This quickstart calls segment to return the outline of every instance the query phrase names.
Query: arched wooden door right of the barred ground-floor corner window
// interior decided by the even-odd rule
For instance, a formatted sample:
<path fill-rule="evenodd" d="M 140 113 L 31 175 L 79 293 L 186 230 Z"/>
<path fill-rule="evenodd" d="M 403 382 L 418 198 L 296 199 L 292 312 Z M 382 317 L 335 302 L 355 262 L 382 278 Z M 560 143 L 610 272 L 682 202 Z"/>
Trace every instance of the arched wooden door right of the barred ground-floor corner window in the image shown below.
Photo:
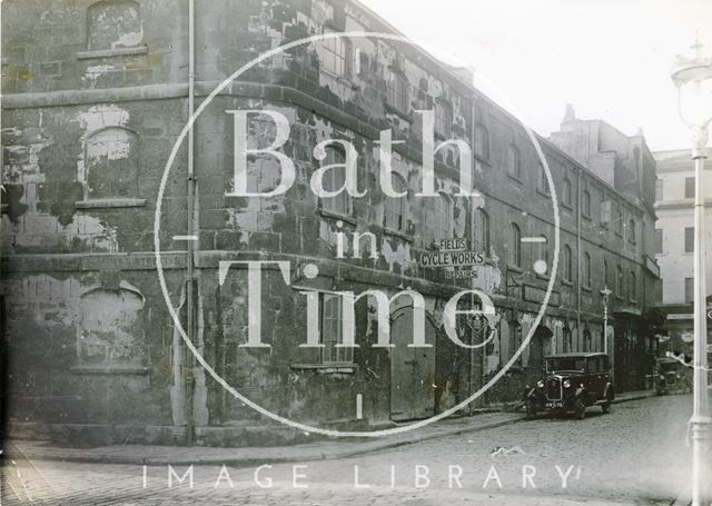
<path fill-rule="evenodd" d="M 408 348 L 413 343 L 413 309 L 394 315 L 390 325 L 390 418 L 396 421 L 435 414 L 435 328 L 426 320 L 425 341 L 432 348 Z"/>

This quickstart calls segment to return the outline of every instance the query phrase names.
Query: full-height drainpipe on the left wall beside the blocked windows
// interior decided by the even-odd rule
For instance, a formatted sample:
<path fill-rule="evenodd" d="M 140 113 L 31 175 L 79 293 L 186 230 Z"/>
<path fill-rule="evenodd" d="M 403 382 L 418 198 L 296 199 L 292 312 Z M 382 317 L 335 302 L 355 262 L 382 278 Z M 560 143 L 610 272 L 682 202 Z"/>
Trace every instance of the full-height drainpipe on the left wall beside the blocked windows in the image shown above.
<path fill-rule="evenodd" d="M 195 0 L 188 0 L 188 120 L 195 111 L 195 88 L 196 88 L 196 58 L 195 58 Z M 194 143 L 195 143 L 195 125 L 188 131 L 188 240 L 187 242 L 187 335 L 191 343 L 195 341 L 195 241 L 191 236 L 195 235 L 195 187 L 196 178 L 194 170 Z M 194 357 L 192 354 L 186 354 L 186 446 L 194 443 L 194 416 L 192 416 L 192 390 L 194 390 Z"/>

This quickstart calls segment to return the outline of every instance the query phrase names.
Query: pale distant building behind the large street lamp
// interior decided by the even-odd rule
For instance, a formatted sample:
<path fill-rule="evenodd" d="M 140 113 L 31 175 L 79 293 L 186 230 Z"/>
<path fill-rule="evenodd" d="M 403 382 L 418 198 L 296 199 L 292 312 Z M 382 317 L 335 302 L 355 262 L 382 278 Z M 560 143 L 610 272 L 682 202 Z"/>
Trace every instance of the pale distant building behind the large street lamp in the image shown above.
<path fill-rule="evenodd" d="M 657 151 L 655 181 L 655 257 L 663 279 L 660 305 L 666 315 L 671 351 L 692 355 L 692 302 L 694 300 L 694 161 L 689 149 Z M 706 294 L 712 294 L 712 176 L 711 160 L 704 171 L 706 211 Z M 708 314 L 712 306 L 708 305 Z M 708 341 L 712 340 L 712 320 L 708 318 Z"/>

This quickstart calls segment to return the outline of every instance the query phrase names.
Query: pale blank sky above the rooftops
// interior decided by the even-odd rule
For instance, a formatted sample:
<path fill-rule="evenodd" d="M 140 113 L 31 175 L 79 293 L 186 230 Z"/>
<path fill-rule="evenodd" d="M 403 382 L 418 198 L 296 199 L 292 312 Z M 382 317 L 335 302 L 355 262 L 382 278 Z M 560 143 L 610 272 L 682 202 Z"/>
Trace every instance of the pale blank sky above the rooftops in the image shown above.
<path fill-rule="evenodd" d="M 483 76 L 538 133 L 566 103 L 652 151 L 689 149 L 670 79 L 695 32 L 712 52 L 712 0 L 360 0 L 441 59 Z"/>

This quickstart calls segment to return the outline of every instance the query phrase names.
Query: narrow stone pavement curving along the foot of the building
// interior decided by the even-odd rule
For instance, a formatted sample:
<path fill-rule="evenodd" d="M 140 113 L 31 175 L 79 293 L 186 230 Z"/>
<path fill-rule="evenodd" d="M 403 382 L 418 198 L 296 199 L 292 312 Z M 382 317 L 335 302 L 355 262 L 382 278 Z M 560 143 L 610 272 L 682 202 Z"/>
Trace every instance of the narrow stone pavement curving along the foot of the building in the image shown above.
<path fill-rule="evenodd" d="M 625 393 L 615 403 L 636 400 L 654 396 L 654 390 Z M 233 467 L 249 467 L 255 464 L 279 464 L 347 458 L 403 445 L 442 438 L 463 433 L 475 433 L 503 425 L 514 424 L 524 418 L 521 413 L 481 413 L 473 417 L 451 418 L 426 427 L 406 431 L 387 438 L 374 439 L 322 439 L 313 444 L 284 447 L 181 447 L 112 445 L 95 448 L 62 448 L 42 440 L 16 439 L 4 448 L 6 457 L 65 460 L 76 463 L 139 464 L 162 466 L 167 464 L 219 464 Z"/>

